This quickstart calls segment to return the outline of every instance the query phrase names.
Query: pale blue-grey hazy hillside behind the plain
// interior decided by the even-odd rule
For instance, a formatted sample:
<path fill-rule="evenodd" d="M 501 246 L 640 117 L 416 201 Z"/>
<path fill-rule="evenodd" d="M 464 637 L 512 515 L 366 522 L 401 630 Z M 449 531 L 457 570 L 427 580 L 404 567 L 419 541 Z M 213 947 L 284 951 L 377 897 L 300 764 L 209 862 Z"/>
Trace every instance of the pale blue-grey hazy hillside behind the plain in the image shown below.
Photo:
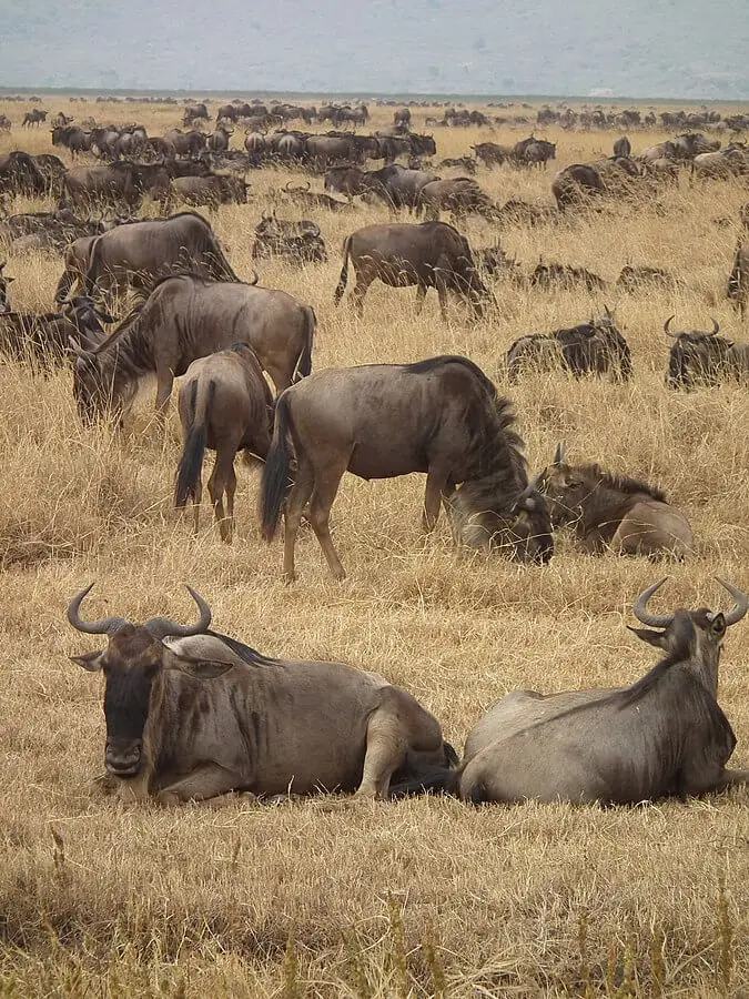
<path fill-rule="evenodd" d="M 2 0 L 0 85 L 749 98 L 747 0 Z"/>

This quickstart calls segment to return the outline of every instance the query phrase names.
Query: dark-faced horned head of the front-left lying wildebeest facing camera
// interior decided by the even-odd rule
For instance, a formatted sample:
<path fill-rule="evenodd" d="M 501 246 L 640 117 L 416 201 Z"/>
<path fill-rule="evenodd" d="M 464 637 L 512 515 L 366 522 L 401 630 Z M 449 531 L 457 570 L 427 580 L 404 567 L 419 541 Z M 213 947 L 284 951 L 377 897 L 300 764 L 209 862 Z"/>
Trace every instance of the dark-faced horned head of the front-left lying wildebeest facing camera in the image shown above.
<path fill-rule="evenodd" d="M 122 617 L 107 617 L 98 622 L 84 622 L 80 606 L 91 592 L 82 589 L 68 606 L 68 620 L 79 632 L 88 635 L 107 635 L 105 649 L 73 656 L 73 663 L 92 673 L 104 674 L 104 717 L 107 720 L 107 747 L 104 763 L 117 777 L 134 777 L 144 763 L 143 736 L 148 720 L 151 693 L 156 677 L 164 668 L 180 668 L 209 678 L 225 670 L 212 664 L 190 664 L 171 654 L 162 644 L 168 636 L 186 637 L 205 633 L 211 624 L 211 608 L 188 586 L 190 595 L 200 608 L 200 618 L 193 625 L 179 625 L 164 617 L 154 617 L 144 625 L 134 625 Z"/>

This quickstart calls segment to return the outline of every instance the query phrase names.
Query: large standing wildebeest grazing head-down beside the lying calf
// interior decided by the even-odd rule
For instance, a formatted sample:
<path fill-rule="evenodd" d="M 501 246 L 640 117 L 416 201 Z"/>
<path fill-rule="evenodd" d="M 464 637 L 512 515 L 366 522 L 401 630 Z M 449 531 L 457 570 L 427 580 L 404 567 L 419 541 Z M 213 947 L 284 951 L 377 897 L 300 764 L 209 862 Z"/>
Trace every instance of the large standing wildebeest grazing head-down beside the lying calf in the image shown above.
<path fill-rule="evenodd" d="M 434 528 L 444 500 L 458 541 L 547 562 L 554 551 L 548 509 L 528 485 L 514 422 L 507 400 L 459 356 L 331 369 L 282 393 L 263 468 L 261 523 L 270 542 L 285 504 L 286 579 L 294 578 L 294 545 L 307 501 L 305 516 L 328 568 L 344 578 L 328 519 L 346 471 L 367 481 L 426 472 L 426 531 Z"/>

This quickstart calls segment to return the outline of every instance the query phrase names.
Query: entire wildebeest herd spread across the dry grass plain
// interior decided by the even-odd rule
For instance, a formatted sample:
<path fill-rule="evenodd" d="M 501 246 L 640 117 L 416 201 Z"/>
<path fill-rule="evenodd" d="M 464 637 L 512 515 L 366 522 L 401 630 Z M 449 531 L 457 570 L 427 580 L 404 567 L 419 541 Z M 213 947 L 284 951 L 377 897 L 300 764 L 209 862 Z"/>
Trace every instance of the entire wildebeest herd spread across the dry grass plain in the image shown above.
<path fill-rule="evenodd" d="M 51 142 L 68 151 L 69 167 L 20 150 L 0 157 L 0 240 L 11 259 L 30 251 L 62 258 L 51 296 L 58 311 L 43 313 L 13 310 L 12 266 L 0 266 L 2 353 L 42 374 L 69 366 L 84 425 L 102 418 L 123 424 L 139 385 L 155 375 L 163 432 L 174 380 L 182 379 L 175 506 L 192 502 L 196 532 L 203 457 L 215 451 L 208 490 L 221 538 L 231 542 L 234 461 L 244 452 L 262 465 L 259 522 L 267 542 L 283 518 L 289 582 L 303 521 L 331 573 L 344 578 L 330 514 L 346 471 L 367 481 L 425 473 L 424 529 L 435 528 L 444 507 L 464 552 L 544 566 L 554 556 L 555 533 L 568 528 L 571 543 L 589 554 L 689 558 L 696 549 L 689 521 L 659 487 L 584 455 L 568 460 L 564 442 L 546 467 L 529 473 L 513 404 L 466 356 L 313 372 L 313 307 L 263 286 L 256 273 L 240 280 L 211 220 L 176 209 L 235 204 L 250 214 L 259 206 L 260 219 L 255 212 L 249 226 L 253 261 L 261 266 L 282 258 L 304 272 L 335 251 L 326 248 L 317 221 L 277 218 L 284 200 L 318 218 L 334 211 L 354 219 L 358 204 L 384 205 L 389 221 L 352 222 L 340 280 L 330 289 L 335 304 L 361 317 L 367 290 L 379 281 L 415 287 L 416 314 L 434 289 L 444 320 L 451 295 L 464 324 L 490 325 L 502 320 L 497 278 L 529 294 L 583 287 L 603 296 L 608 290 L 591 271 L 547 259 L 524 275 L 498 242 L 514 219 L 568 224 L 570 215 L 619 200 L 655 200 L 681 174 L 691 183 L 742 178 L 749 175 L 749 151 L 736 137 L 720 149 L 720 139 L 689 131 L 634 157 L 630 139 L 621 137 L 613 157 L 561 169 L 550 182 L 554 203 L 498 204 L 476 180 L 478 169 L 544 169 L 556 159 L 555 143 L 535 134 L 512 148 L 486 141 L 433 165 L 438 140 L 412 131 L 412 115 L 404 112 L 395 113 L 392 127 L 360 134 L 348 127 L 365 128 L 365 105 L 226 104 L 206 135 L 195 125 L 210 115 L 198 104 L 184 114 L 190 131 L 162 137 L 135 124 L 84 128 L 55 115 Z M 23 125 L 40 128 L 40 114 L 30 112 Z M 442 124 L 455 128 L 458 119 L 445 112 Z M 287 128 L 294 120 L 305 131 Z M 334 130 L 306 131 L 314 121 L 330 121 Z M 232 149 L 240 123 L 243 149 Z M 629 122 L 630 131 L 636 127 Z M 78 165 L 81 157 L 91 162 Z M 378 160 L 382 167 L 374 165 Z M 312 180 L 296 188 L 289 182 L 272 204 L 257 205 L 246 178 L 280 167 L 322 178 L 324 189 L 313 191 Z M 435 172 L 443 169 L 469 175 L 443 178 Z M 12 199 L 41 195 L 54 200 L 51 211 L 12 211 Z M 159 216 L 139 218 L 144 204 Z M 494 245 L 470 244 L 460 226 L 472 218 L 496 228 Z M 748 222 L 745 211 L 722 289 L 741 316 L 749 300 Z M 346 300 L 350 269 L 354 286 Z M 632 262 L 611 290 L 675 284 L 667 271 Z M 126 314 L 117 320 L 125 300 Z M 709 331 L 677 332 L 674 320 L 664 323 L 664 334 L 674 339 L 668 386 L 749 376 L 749 345 L 719 335 L 715 321 Z M 600 302 L 588 321 L 516 340 L 499 373 L 512 387 L 539 371 L 624 384 L 636 370 L 615 310 Z M 650 672 L 626 688 L 513 692 L 473 727 L 462 763 L 439 723 L 407 690 L 340 663 L 269 658 L 211 630 L 211 610 L 192 589 L 200 618 L 189 627 L 165 618 L 87 622 L 81 604 L 90 587 L 71 601 L 68 617 L 81 632 L 107 635 L 103 652 L 77 662 L 105 676 L 107 783 L 136 797 L 169 804 L 232 793 L 387 797 L 439 789 L 474 803 L 626 804 L 749 779 L 748 771 L 726 768 L 736 739 L 717 699 L 722 639 L 749 602 L 719 582 L 733 602 L 725 613 L 678 608 L 656 615 L 648 603 L 661 584 L 649 586 L 635 614 L 649 628 L 638 629 L 638 637 L 664 653 Z"/>

